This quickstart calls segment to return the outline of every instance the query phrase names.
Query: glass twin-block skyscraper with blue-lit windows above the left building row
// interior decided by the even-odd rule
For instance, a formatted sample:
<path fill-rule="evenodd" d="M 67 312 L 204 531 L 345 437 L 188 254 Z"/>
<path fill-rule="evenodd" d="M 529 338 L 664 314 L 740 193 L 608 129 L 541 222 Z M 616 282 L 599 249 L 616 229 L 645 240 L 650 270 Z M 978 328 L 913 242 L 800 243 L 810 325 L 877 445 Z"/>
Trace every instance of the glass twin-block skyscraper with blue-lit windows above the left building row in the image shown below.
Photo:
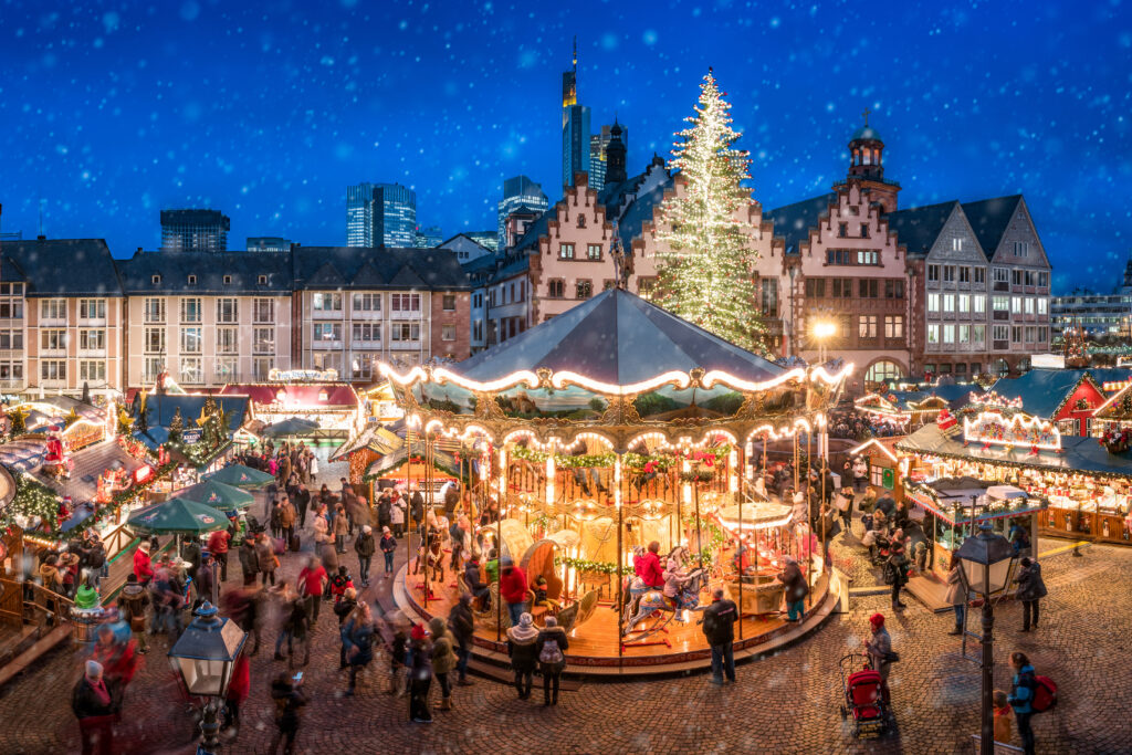
<path fill-rule="evenodd" d="M 346 246 L 413 247 L 417 192 L 400 183 L 346 187 Z"/>

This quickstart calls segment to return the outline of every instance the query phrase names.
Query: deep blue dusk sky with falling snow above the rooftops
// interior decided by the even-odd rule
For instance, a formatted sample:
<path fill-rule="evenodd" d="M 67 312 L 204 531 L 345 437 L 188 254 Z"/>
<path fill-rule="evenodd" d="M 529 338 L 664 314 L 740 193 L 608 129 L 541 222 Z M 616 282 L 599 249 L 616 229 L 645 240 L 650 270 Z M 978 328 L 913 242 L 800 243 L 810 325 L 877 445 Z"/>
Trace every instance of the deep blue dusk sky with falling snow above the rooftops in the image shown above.
<path fill-rule="evenodd" d="M 3 230 L 160 242 L 212 206 L 247 235 L 343 243 L 345 187 L 421 224 L 495 228 L 501 180 L 560 195 L 560 74 L 668 156 L 714 66 L 775 207 L 827 190 L 864 108 L 901 206 L 1022 191 L 1055 286 L 1132 250 L 1132 8 L 1088 2 L 0 0 Z"/>

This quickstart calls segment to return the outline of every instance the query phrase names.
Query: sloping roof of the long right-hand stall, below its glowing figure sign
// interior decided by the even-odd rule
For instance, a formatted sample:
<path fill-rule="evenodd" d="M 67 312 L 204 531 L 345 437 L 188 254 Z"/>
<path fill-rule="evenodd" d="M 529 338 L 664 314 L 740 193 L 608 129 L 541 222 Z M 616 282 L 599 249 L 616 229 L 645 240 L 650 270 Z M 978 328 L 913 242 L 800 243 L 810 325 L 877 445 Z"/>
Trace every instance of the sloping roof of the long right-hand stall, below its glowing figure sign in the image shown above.
<path fill-rule="evenodd" d="M 926 453 L 951 458 L 967 458 L 975 462 L 1005 464 L 1010 466 L 1032 466 L 1052 472 L 1091 474 L 1098 477 L 1132 478 L 1132 452 L 1109 454 L 1096 438 L 1062 436 L 1062 453 L 1039 449 L 1031 454 L 1024 446 L 1007 451 L 1005 446 L 963 446 L 958 438 L 949 438 L 938 426 L 927 424 L 895 444 L 897 451 Z"/>

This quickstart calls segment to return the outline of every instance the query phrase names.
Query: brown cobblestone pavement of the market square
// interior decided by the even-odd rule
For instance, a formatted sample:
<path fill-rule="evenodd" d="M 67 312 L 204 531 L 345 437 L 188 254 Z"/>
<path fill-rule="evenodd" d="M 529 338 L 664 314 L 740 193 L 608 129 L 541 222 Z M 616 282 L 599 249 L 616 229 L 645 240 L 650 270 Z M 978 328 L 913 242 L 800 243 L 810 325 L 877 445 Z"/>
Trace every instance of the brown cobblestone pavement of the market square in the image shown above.
<path fill-rule="evenodd" d="M 305 533 L 309 541 L 309 531 Z M 1047 547 L 1049 543 L 1047 543 Z M 305 547 L 309 548 L 309 544 Z M 1020 634 L 1020 607 L 996 611 L 996 684 L 1009 689 L 1003 662 L 1014 649 L 1028 652 L 1039 672 L 1061 687 L 1058 707 L 1035 719 L 1040 753 L 1129 753 L 1132 695 L 1125 625 L 1132 617 L 1132 549 L 1088 548 L 1083 558 L 1058 556 L 1045 564 L 1049 597 L 1041 628 Z M 352 556 L 346 557 L 351 568 Z M 299 559 L 289 555 L 290 576 Z M 238 572 L 238 567 L 233 569 Z M 380 569 L 376 569 L 380 573 Z M 380 583 L 380 580 L 376 580 Z M 387 584 L 387 583 L 386 583 Z M 367 591 L 387 594 L 386 584 Z M 358 696 L 344 698 L 337 670 L 336 623 L 318 623 L 306 687 L 311 694 L 299 733 L 299 752 L 391 753 L 954 753 L 970 752 L 978 729 L 979 672 L 962 660 L 959 640 L 946 635 L 951 617 L 934 616 L 909 600 L 891 616 L 885 597 L 863 598 L 798 645 L 739 668 L 737 685 L 722 688 L 702 675 L 659 681 L 586 683 L 563 693 L 558 707 L 543 709 L 537 690 L 520 701 L 511 687 L 480 678 L 457 688 L 455 710 L 434 711 L 431 726 L 408 721 L 408 703 L 381 693 L 385 659 L 367 671 Z M 857 741 L 839 715 L 838 660 L 860 646 L 871 614 L 890 615 L 893 644 L 903 660 L 894 667 L 892 693 L 898 731 L 882 740 Z M 329 620 L 327 620 L 329 619 Z M 972 623 L 974 626 L 974 623 Z M 127 693 L 118 728 L 122 752 L 191 753 L 192 726 L 178 702 L 175 684 L 158 640 Z M 71 651 L 59 651 L 41 668 L 0 693 L 2 753 L 77 752 L 69 710 L 79 671 Z M 243 726 L 226 753 L 264 753 L 274 733 L 267 685 L 282 668 L 269 647 L 252 659 L 252 694 Z M 535 685 L 538 685 L 538 679 Z M 437 685 L 434 684 L 434 700 Z M 1017 739 L 1015 739 L 1017 744 Z"/>

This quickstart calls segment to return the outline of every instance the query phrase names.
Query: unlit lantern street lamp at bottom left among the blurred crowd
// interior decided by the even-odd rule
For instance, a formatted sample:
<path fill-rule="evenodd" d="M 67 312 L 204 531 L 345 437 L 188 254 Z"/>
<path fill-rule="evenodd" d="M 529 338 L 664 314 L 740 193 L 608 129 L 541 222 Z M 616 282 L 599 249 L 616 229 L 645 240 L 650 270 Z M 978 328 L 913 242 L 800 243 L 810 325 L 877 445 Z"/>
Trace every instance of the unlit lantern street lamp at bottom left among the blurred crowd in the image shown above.
<path fill-rule="evenodd" d="M 220 701 L 232 681 L 235 659 L 248 635 L 228 618 L 216 616 L 216 607 L 205 601 L 194 611 L 196 618 L 169 651 L 173 670 L 181 676 L 190 695 L 207 697 L 198 754 L 215 753 L 220 745 Z"/>

